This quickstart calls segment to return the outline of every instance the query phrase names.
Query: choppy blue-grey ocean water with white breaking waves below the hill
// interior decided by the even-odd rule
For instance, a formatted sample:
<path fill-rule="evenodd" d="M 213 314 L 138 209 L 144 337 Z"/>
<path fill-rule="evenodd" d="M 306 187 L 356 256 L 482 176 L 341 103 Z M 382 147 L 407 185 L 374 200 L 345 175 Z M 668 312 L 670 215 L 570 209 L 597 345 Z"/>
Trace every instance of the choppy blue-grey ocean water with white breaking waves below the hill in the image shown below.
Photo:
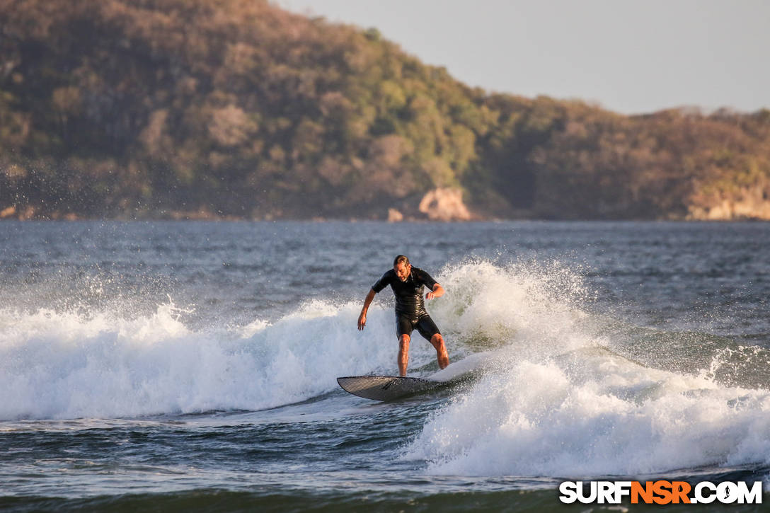
<path fill-rule="evenodd" d="M 335 378 L 397 374 L 390 290 L 356 322 L 399 253 L 447 290 L 427 307 L 452 364 L 415 333 L 410 375 L 455 384 L 384 404 Z M 541 511 L 591 478 L 770 491 L 768 255 L 766 223 L 6 221 L 0 510 Z"/>

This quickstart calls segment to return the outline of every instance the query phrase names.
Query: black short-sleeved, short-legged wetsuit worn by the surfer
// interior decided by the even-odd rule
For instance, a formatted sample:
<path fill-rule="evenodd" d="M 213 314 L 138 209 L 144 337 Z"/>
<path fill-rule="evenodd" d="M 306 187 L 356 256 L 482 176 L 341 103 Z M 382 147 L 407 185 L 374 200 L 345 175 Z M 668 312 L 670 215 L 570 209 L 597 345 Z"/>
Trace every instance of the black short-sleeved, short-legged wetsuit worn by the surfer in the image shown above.
<path fill-rule="evenodd" d="M 430 340 L 435 334 L 440 334 L 436 323 L 425 311 L 425 299 L 423 293 L 425 286 L 430 290 L 436 285 L 436 280 L 417 267 L 412 267 L 412 272 L 406 281 L 401 281 L 396 271 L 391 269 L 383 274 L 377 283 L 372 285 L 372 290 L 379 293 L 390 285 L 396 296 L 396 332 L 401 335 L 411 335 L 417 328 L 420 335 Z"/>

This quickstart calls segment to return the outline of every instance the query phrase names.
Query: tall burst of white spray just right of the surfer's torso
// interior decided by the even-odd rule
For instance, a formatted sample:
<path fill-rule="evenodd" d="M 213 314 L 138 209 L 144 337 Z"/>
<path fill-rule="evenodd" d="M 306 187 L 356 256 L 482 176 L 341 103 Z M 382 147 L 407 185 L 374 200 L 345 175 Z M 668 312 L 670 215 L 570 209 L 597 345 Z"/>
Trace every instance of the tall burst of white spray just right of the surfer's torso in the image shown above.
<path fill-rule="evenodd" d="M 430 304 L 430 312 L 450 334 L 450 346 L 467 346 L 467 352 L 506 346 L 523 354 L 558 354 L 598 343 L 587 335 L 592 318 L 585 307 L 593 296 L 581 276 L 558 261 L 502 266 L 468 260 L 445 267 L 440 281 L 446 300 Z"/>

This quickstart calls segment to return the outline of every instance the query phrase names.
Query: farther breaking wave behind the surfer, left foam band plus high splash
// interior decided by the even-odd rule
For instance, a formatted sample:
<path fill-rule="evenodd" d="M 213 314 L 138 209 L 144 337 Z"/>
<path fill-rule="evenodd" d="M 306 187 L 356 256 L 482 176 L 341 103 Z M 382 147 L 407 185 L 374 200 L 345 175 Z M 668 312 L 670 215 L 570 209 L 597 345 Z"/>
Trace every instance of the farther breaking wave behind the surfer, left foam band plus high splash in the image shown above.
<path fill-rule="evenodd" d="M 535 276 L 467 262 L 440 280 L 452 293 L 429 308 L 455 361 L 507 343 L 515 330 L 543 330 L 556 310 L 575 314 L 547 298 L 571 280 L 565 270 Z M 392 301 L 380 296 L 364 332 L 356 330 L 360 302 L 313 300 L 272 323 L 214 327 L 170 297 L 150 314 L 68 300 L 59 310 L 5 307 L 0 420 L 254 411 L 336 390 L 340 375 L 394 374 Z M 436 370 L 430 344 L 413 343 L 410 373 Z"/>

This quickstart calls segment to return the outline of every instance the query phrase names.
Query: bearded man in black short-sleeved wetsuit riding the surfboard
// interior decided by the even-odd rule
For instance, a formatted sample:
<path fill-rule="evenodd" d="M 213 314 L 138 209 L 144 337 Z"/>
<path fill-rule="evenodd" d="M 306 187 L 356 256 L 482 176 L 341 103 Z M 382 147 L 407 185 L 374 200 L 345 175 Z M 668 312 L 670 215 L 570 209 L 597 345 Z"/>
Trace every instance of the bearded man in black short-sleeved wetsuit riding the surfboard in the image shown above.
<path fill-rule="evenodd" d="M 393 260 L 393 269 L 383 274 L 377 283 L 374 283 L 363 300 L 363 308 L 358 316 L 358 329 L 363 330 L 367 325 L 367 310 L 374 300 L 374 296 L 390 285 L 393 295 L 396 297 L 396 334 L 399 342 L 398 371 L 401 376 L 407 375 L 407 363 L 409 362 L 409 342 L 412 331 L 417 328 L 425 340 L 428 340 L 436 348 L 438 366 L 440 368 L 449 365 L 447 347 L 444 346 L 444 337 L 425 310 L 423 292 L 425 286 L 430 292 L 425 294 L 425 299 L 432 300 L 444 295 L 444 287 L 441 287 L 430 274 L 412 267 L 409 259 L 399 255 Z"/>

